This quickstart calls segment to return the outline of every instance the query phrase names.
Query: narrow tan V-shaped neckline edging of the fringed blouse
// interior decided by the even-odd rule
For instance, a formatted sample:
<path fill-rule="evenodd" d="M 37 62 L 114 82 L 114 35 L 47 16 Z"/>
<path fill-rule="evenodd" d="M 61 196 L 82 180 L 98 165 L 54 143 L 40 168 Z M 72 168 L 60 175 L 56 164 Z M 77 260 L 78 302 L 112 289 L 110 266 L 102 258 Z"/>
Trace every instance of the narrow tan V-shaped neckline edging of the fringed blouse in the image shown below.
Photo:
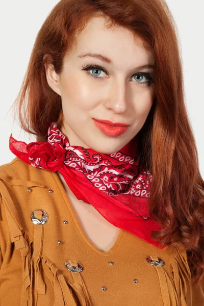
<path fill-rule="evenodd" d="M 67 209 L 69 210 L 71 216 L 72 216 L 72 219 L 75 223 L 75 225 L 77 225 L 77 228 L 78 228 L 78 231 L 79 233 L 81 234 L 83 240 L 85 241 L 86 244 L 88 244 L 95 252 L 99 253 L 100 255 L 104 255 L 104 256 L 109 256 L 110 254 L 113 254 L 113 252 L 117 249 L 124 233 L 125 233 L 125 230 L 123 230 L 122 228 L 119 228 L 119 232 L 118 232 L 118 235 L 117 235 L 117 238 L 113 244 L 113 246 L 108 250 L 108 251 L 103 251 L 103 250 L 100 250 L 99 248 L 97 248 L 88 238 L 88 236 L 86 235 L 86 233 L 84 232 L 83 230 L 83 227 L 77 217 L 77 214 L 74 212 L 74 209 L 69 201 L 69 198 L 67 196 L 67 193 L 66 193 L 66 190 L 63 186 L 63 182 L 61 181 L 60 179 L 60 176 L 57 172 L 51 172 L 54 177 L 55 177 L 55 180 L 61 190 L 61 193 L 63 195 L 63 198 L 64 198 L 64 201 L 66 203 L 66 206 L 67 206 Z"/>

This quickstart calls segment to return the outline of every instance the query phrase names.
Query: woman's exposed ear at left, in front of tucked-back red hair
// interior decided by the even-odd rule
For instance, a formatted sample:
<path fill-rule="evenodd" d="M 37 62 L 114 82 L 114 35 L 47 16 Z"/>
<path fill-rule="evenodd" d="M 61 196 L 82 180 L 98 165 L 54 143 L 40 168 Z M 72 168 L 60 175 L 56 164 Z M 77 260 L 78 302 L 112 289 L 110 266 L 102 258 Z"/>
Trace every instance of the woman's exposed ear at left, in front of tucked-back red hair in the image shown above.
<path fill-rule="evenodd" d="M 46 55 L 43 56 L 43 61 L 45 61 Z M 55 72 L 53 64 L 46 62 L 44 63 L 46 79 L 49 87 L 51 87 L 56 93 L 61 96 L 61 91 L 59 87 L 59 74 Z"/>

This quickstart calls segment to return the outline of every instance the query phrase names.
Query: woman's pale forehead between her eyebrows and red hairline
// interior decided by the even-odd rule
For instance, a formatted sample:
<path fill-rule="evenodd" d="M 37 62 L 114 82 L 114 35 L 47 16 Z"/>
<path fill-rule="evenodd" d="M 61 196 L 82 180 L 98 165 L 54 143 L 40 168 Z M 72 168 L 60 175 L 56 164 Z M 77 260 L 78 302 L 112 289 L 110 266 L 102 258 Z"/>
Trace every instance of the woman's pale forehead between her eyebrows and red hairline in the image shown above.
<path fill-rule="evenodd" d="M 79 56 L 84 53 L 98 53 L 107 56 L 114 62 L 126 64 L 129 60 L 137 62 L 154 61 L 151 50 L 147 50 L 143 41 L 124 27 L 113 25 L 107 28 L 107 20 L 92 17 L 80 34 L 75 37 L 72 54 Z"/>

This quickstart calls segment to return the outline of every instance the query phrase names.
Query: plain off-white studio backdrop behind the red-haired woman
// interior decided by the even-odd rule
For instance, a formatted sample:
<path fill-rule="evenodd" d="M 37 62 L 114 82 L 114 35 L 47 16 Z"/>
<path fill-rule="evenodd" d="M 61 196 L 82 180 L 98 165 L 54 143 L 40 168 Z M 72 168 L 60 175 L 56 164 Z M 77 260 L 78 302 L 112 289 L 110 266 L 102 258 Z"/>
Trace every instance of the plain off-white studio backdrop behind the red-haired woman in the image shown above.
<path fill-rule="evenodd" d="M 149 0 L 150 1 L 150 0 Z M 59 1 L 2 1 L 1 11 L 1 155 L 0 165 L 15 156 L 9 150 L 9 136 L 19 141 L 35 141 L 20 130 L 10 110 L 20 90 L 36 35 L 46 16 Z M 204 179 L 203 144 L 203 0 L 167 0 L 179 31 L 184 68 L 185 102 L 193 128 L 201 175 Z"/>

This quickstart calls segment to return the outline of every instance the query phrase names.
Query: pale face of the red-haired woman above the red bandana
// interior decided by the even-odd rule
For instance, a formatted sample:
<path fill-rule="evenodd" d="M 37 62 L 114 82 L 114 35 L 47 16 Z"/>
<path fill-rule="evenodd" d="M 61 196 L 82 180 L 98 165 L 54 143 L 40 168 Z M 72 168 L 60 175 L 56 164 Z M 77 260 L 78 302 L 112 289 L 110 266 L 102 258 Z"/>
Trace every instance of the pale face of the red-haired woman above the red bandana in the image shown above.
<path fill-rule="evenodd" d="M 85 56 L 88 53 L 100 56 Z M 86 65 L 97 67 L 86 71 Z M 154 84 L 148 82 L 153 68 L 138 68 L 143 65 L 153 66 L 154 57 L 130 31 L 121 27 L 107 30 L 105 19 L 94 17 L 64 58 L 62 72 L 57 74 L 50 64 L 45 67 L 49 86 L 62 98 L 61 131 L 70 145 L 112 154 L 137 135 L 155 98 Z M 92 118 L 130 126 L 123 134 L 110 136 Z"/>

